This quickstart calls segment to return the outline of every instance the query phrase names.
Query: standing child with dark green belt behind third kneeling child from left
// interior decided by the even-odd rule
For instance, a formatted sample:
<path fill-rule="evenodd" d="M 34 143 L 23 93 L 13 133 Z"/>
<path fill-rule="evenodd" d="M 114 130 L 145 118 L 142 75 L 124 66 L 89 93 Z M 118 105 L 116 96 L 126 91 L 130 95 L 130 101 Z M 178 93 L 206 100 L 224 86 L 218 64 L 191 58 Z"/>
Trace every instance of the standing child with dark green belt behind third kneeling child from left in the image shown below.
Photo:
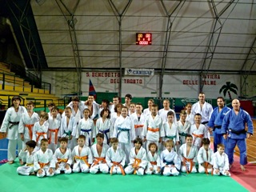
<path fill-rule="evenodd" d="M 68 148 L 72 150 L 75 146 L 76 139 L 75 139 L 75 134 L 76 134 L 76 129 L 77 129 L 77 123 L 74 118 L 74 116 L 71 114 L 71 108 L 70 106 L 66 106 L 65 108 L 65 116 L 62 118 L 61 122 L 61 128 L 59 130 L 59 137 L 66 137 L 69 139 L 69 142 L 67 144 Z"/>

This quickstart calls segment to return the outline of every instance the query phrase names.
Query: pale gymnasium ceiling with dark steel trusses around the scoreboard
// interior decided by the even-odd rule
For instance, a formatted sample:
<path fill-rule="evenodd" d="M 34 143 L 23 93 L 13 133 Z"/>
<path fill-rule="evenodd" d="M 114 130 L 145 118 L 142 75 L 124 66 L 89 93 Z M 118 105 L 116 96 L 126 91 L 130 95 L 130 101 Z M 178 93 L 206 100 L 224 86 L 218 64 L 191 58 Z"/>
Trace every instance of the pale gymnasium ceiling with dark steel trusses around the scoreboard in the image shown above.
<path fill-rule="evenodd" d="M 255 0 L 31 0 L 29 6 L 42 70 L 256 72 Z M 151 33 L 152 45 L 136 45 L 136 33 Z"/>

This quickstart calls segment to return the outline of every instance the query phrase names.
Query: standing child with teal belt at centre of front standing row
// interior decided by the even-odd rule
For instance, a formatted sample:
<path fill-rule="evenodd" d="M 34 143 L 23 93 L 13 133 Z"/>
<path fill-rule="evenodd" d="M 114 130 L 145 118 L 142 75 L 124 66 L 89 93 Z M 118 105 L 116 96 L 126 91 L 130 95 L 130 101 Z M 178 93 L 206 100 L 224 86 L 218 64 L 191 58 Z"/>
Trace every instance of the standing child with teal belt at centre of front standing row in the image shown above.
<path fill-rule="evenodd" d="M 129 162 L 131 142 L 135 139 L 134 122 L 127 116 L 128 108 L 122 106 L 122 116 L 117 118 L 114 123 L 114 136 L 118 138 L 119 147 L 126 153 L 126 163 Z"/>

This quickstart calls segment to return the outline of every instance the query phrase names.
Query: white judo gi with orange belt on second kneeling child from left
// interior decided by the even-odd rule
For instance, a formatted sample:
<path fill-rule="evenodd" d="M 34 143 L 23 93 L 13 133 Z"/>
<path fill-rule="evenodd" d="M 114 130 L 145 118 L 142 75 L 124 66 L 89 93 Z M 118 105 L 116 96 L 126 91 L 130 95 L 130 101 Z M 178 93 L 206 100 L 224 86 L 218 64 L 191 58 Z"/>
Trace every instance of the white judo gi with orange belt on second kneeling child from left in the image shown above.
<path fill-rule="evenodd" d="M 54 154 L 52 150 L 46 149 L 43 152 L 41 149 L 34 154 L 34 171 L 42 169 L 42 174 L 38 174 L 38 178 L 46 176 L 53 176 L 54 172 L 50 174 L 49 169 L 55 168 Z"/>

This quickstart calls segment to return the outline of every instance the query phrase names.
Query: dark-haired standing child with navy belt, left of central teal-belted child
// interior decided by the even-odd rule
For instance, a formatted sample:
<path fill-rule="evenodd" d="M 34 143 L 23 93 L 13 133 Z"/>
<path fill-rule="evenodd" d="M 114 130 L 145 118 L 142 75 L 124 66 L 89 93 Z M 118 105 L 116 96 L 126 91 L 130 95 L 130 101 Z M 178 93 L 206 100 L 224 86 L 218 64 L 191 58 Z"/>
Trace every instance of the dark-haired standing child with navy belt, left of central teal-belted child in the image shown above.
<path fill-rule="evenodd" d="M 103 109 L 101 118 L 97 119 L 95 126 L 95 134 L 102 133 L 104 135 L 104 143 L 109 144 L 110 138 L 113 137 L 114 125 L 110 121 L 110 110 Z"/>

